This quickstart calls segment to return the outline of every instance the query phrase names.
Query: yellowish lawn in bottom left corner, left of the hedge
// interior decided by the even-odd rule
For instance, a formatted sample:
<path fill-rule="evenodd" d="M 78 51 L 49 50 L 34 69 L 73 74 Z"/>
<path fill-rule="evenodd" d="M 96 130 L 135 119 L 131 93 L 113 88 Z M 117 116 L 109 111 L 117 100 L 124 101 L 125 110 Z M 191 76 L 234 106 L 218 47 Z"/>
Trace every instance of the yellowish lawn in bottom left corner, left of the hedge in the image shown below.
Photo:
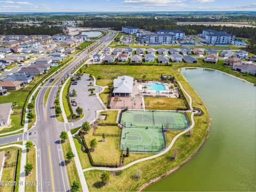
<path fill-rule="evenodd" d="M 9 167 L 3 168 L 1 181 L 9 181 L 9 182 L 15 181 L 15 172 L 18 166 L 18 162 L 17 162 L 18 149 L 19 148 L 17 147 L 0 149 L 0 151 L 5 151 L 5 164 L 11 165 Z M 19 155 L 21 155 L 21 153 Z M 14 185 L 2 185 L 0 187 L 0 191 L 14 191 Z"/>

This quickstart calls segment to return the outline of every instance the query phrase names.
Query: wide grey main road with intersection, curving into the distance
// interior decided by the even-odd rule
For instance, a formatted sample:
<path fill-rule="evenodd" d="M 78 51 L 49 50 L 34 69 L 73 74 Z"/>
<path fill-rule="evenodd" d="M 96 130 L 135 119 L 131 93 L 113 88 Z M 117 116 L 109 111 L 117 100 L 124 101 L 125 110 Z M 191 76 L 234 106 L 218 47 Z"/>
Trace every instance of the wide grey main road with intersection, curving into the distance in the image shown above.
<path fill-rule="evenodd" d="M 71 63 L 68 67 L 63 69 L 60 73 L 54 76 L 54 78 L 58 78 L 58 81 L 55 82 L 52 87 L 46 106 L 44 106 L 44 95 L 47 90 L 47 86 L 50 86 L 50 82 L 47 82 L 42 89 L 39 91 L 36 98 L 36 114 L 37 114 L 37 123 L 34 129 L 28 131 L 27 133 L 21 133 L 12 135 L 9 137 L 2 137 L 0 139 L 0 144 L 16 142 L 18 140 L 27 139 L 32 140 L 38 149 L 37 156 L 37 174 L 39 182 L 49 182 L 50 185 L 40 185 L 38 186 L 38 191 L 68 191 L 70 189 L 67 171 L 65 169 L 65 155 L 62 153 L 59 135 L 61 131 L 70 130 L 81 126 L 83 121 L 79 121 L 76 123 L 64 124 L 58 122 L 54 116 L 53 109 L 53 101 L 56 97 L 56 93 L 58 91 L 58 86 L 60 85 L 63 77 L 70 75 L 71 71 L 82 62 L 88 56 L 97 53 L 103 46 L 106 46 L 110 43 L 113 37 L 116 35 L 116 31 L 108 30 L 108 34 L 100 39 L 98 43 L 100 44 L 97 48 L 95 48 L 90 55 L 87 53 L 89 50 L 85 50 L 80 55 L 77 56 L 77 59 Z M 18 69 L 17 69 L 18 70 Z M 12 72 L 13 73 L 13 72 Z M 90 110 L 89 110 L 90 111 Z M 91 114 L 92 113 L 92 114 Z M 90 111 L 90 113 L 86 113 L 86 118 L 88 120 L 94 117 L 94 111 Z"/>

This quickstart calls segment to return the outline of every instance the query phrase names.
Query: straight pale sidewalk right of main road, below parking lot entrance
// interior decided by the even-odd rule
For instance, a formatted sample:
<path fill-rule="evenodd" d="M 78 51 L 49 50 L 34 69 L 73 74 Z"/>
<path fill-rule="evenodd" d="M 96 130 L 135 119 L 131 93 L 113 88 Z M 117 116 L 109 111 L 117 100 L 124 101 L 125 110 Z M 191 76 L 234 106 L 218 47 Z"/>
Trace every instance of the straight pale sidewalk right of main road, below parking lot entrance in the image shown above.
<path fill-rule="evenodd" d="M 77 151 L 76 151 L 75 142 L 73 140 L 73 137 L 72 137 L 72 134 L 71 134 L 70 131 L 68 131 L 68 139 L 69 139 L 69 143 L 70 143 L 72 152 L 75 155 L 74 159 L 75 159 L 75 163 L 76 163 L 76 169 L 77 169 L 77 172 L 78 172 L 78 176 L 79 176 L 79 179 L 80 179 L 80 182 L 81 182 L 82 189 L 83 189 L 84 192 L 89 191 L 87 183 L 86 183 L 85 178 L 84 178 L 84 173 L 83 173 L 83 169 L 82 169 L 82 166 L 81 166 L 81 162 L 80 162 L 80 159 L 79 159 Z"/>

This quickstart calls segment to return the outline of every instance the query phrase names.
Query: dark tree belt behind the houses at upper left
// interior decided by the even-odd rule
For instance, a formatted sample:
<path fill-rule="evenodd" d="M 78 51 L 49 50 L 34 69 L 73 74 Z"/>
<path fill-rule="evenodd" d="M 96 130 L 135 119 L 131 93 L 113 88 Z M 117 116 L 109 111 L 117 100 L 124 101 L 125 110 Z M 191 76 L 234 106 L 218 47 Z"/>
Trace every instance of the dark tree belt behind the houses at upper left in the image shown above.
<path fill-rule="evenodd" d="M 66 28 L 58 26 L 24 26 L 24 25 L 13 25 L 0 24 L 1 35 L 56 35 L 66 34 Z"/>

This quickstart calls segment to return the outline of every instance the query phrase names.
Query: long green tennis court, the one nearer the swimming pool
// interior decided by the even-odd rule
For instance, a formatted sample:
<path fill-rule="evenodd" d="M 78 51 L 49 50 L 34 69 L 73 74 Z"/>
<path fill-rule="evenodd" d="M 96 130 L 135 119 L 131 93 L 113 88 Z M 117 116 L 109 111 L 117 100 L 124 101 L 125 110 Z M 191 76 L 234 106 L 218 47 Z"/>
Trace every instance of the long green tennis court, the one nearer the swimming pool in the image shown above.
<path fill-rule="evenodd" d="M 189 126 L 187 115 L 164 111 L 125 111 L 121 124 L 125 127 L 182 130 Z"/>

